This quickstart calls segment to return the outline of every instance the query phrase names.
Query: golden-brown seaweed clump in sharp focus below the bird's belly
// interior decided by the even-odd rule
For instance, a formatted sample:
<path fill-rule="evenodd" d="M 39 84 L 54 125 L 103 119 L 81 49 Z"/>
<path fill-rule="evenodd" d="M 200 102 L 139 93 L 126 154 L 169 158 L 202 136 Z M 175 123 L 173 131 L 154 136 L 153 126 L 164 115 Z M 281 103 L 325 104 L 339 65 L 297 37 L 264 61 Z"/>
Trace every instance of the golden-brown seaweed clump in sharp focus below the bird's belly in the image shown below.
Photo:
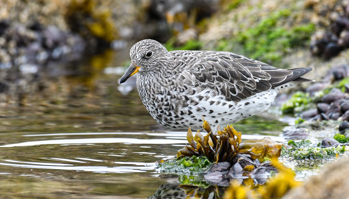
<path fill-rule="evenodd" d="M 223 130 L 217 130 L 214 134 L 210 125 L 204 119 L 202 127 L 207 132 L 205 136 L 197 131 L 193 137 L 191 129 L 188 129 L 187 140 L 189 145 L 178 150 L 177 157 L 205 155 L 209 161 L 214 163 L 231 163 L 237 154 L 248 154 L 252 159 L 258 159 L 261 162 L 264 161 L 265 157 L 273 159 L 281 154 L 282 144 L 270 138 L 251 139 L 242 142 L 241 133 L 237 132 L 233 126 L 227 125 Z"/>

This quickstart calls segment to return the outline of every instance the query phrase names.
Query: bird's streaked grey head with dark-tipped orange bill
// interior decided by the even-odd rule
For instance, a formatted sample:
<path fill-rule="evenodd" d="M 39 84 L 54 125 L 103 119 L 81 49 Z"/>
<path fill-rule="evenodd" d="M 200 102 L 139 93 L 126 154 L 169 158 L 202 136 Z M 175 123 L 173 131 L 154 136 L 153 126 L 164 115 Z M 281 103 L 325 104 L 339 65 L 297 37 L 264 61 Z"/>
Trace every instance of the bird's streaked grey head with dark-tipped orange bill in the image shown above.
<path fill-rule="evenodd" d="M 149 73 L 162 71 L 166 63 L 173 59 L 169 51 L 159 42 L 153 39 L 144 39 L 137 42 L 130 50 L 131 66 L 122 76 L 120 83 L 124 83 L 129 77 L 140 72 Z"/>

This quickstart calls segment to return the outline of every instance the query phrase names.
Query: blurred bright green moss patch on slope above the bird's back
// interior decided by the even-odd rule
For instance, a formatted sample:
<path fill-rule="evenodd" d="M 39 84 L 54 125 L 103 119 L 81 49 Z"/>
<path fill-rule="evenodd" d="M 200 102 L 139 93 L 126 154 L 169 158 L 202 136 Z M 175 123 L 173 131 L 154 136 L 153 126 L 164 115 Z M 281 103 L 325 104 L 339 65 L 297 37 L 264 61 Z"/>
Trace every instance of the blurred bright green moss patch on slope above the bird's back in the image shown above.
<path fill-rule="evenodd" d="M 276 64 L 291 48 L 304 46 L 315 30 L 313 24 L 297 25 L 292 28 L 281 27 L 278 21 L 290 15 L 291 11 L 286 9 L 274 12 L 255 27 L 239 32 L 236 37 L 222 39 L 218 42 L 216 50 L 232 51 L 232 48 L 235 48 L 233 46 L 238 44 L 242 46 L 239 54 Z"/>

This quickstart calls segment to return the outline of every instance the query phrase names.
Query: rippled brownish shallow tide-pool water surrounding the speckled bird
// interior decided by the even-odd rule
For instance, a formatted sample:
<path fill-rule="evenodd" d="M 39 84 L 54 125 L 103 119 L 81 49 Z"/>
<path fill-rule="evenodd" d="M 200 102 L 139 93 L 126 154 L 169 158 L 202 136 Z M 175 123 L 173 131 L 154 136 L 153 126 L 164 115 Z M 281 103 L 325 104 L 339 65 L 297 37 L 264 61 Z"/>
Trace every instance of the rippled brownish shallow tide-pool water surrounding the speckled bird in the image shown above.
<path fill-rule="evenodd" d="M 87 75 L 49 76 L 45 90 L 27 96 L 23 106 L 0 104 L 1 196 L 159 198 L 224 191 L 179 187 L 178 176 L 155 170 L 157 161 L 185 146 L 186 132 L 166 130 L 151 118 L 134 79 L 118 87 L 126 68 L 116 66 L 124 60 L 107 53 L 81 67 Z M 285 125 L 263 113 L 234 126 L 243 139 L 268 135 L 284 142 Z M 302 172 L 299 179 L 312 175 Z"/>

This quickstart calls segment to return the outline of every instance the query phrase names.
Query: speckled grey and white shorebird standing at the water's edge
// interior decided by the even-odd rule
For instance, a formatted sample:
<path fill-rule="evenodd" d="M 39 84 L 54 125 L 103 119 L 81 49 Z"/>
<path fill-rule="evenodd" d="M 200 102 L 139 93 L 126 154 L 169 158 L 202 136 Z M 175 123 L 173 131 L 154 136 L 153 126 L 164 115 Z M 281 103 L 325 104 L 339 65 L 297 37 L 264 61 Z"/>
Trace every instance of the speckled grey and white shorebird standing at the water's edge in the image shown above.
<path fill-rule="evenodd" d="M 136 87 L 150 115 L 170 129 L 230 125 L 269 108 L 283 88 L 309 80 L 312 68 L 281 69 L 223 51 L 168 51 L 152 39 L 134 44 L 120 84 L 137 74 Z"/>

